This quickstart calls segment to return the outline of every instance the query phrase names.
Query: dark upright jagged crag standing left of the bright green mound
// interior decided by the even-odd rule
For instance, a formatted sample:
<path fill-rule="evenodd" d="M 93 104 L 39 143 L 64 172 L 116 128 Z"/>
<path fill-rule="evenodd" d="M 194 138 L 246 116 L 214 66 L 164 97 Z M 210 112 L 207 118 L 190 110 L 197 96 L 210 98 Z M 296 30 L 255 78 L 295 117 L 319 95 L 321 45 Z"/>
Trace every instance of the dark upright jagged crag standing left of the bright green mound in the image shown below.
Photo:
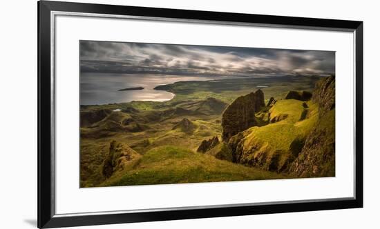
<path fill-rule="evenodd" d="M 255 112 L 265 106 L 264 93 L 261 90 L 238 97 L 227 107 L 222 115 L 222 140 L 228 141 L 238 132 L 258 124 Z"/>

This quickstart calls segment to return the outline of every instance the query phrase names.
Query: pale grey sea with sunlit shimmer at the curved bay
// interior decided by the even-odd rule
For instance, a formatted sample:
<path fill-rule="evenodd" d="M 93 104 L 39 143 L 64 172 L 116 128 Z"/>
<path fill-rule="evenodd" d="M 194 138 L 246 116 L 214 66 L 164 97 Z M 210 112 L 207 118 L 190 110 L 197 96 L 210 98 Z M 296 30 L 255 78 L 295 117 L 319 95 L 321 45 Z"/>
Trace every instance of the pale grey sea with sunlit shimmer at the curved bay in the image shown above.
<path fill-rule="evenodd" d="M 173 99 L 175 94 L 153 88 L 178 81 L 207 81 L 220 77 L 82 72 L 79 79 L 80 104 L 102 105 L 130 101 L 168 101 Z M 144 89 L 119 91 L 135 87 Z"/>

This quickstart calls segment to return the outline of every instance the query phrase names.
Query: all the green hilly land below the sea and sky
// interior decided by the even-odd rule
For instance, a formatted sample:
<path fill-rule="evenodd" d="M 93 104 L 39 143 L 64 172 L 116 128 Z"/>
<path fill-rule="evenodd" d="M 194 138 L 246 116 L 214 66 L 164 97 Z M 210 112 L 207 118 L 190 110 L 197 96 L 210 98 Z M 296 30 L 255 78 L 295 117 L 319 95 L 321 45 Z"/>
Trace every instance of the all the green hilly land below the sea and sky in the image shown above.
<path fill-rule="evenodd" d="M 334 176 L 334 76 L 154 89 L 175 97 L 80 107 L 82 188 Z"/>

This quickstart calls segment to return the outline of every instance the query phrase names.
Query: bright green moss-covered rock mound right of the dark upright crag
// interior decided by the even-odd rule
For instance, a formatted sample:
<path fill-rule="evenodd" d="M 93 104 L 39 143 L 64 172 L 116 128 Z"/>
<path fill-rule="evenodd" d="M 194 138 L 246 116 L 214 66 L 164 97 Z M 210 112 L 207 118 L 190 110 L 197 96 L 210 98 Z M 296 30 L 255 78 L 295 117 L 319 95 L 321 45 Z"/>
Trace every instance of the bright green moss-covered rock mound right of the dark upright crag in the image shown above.
<path fill-rule="evenodd" d="M 305 108 L 304 103 L 279 100 L 268 111 L 267 125 L 254 126 L 231 137 L 228 145 L 233 161 L 264 170 L 287 170 L 319 117 L 316 104 L 308 101 Z"/>

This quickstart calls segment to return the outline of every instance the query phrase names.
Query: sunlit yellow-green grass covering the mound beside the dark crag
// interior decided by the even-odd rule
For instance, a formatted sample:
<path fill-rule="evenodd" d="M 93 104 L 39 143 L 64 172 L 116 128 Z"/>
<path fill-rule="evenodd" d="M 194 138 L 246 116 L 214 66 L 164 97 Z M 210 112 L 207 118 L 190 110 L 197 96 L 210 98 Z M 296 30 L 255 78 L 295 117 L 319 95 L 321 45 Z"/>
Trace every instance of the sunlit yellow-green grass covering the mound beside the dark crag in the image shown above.
<path fill-rule="evenodd" d="M 291 150 L 292 142 L 297 139 L 304 141 L 318 121 L 318 106 L 312 101 L 308 101 L 307 106 L 308 108 L 304 108 L 303 101 L 294 99 L 277 101 L 269 110 L 271 117 L 281 115 L 287 117 L 267 126 L 255 126 L 246 130 L 245 137 L 241 140 L 243 142 L 243 150 L 240 151 L 243 152 L 241 160 L 244 163 L 253 163 L 254 166 L 281 170 L 287 161 L 294 157 Z M 306 118 L 300 121 L 304 110 L 307 110 Z M 273 164 L 273 158 L 277 158 L 278 162 Z M 255 161 L 260 162 L 256 165 Z"/>

